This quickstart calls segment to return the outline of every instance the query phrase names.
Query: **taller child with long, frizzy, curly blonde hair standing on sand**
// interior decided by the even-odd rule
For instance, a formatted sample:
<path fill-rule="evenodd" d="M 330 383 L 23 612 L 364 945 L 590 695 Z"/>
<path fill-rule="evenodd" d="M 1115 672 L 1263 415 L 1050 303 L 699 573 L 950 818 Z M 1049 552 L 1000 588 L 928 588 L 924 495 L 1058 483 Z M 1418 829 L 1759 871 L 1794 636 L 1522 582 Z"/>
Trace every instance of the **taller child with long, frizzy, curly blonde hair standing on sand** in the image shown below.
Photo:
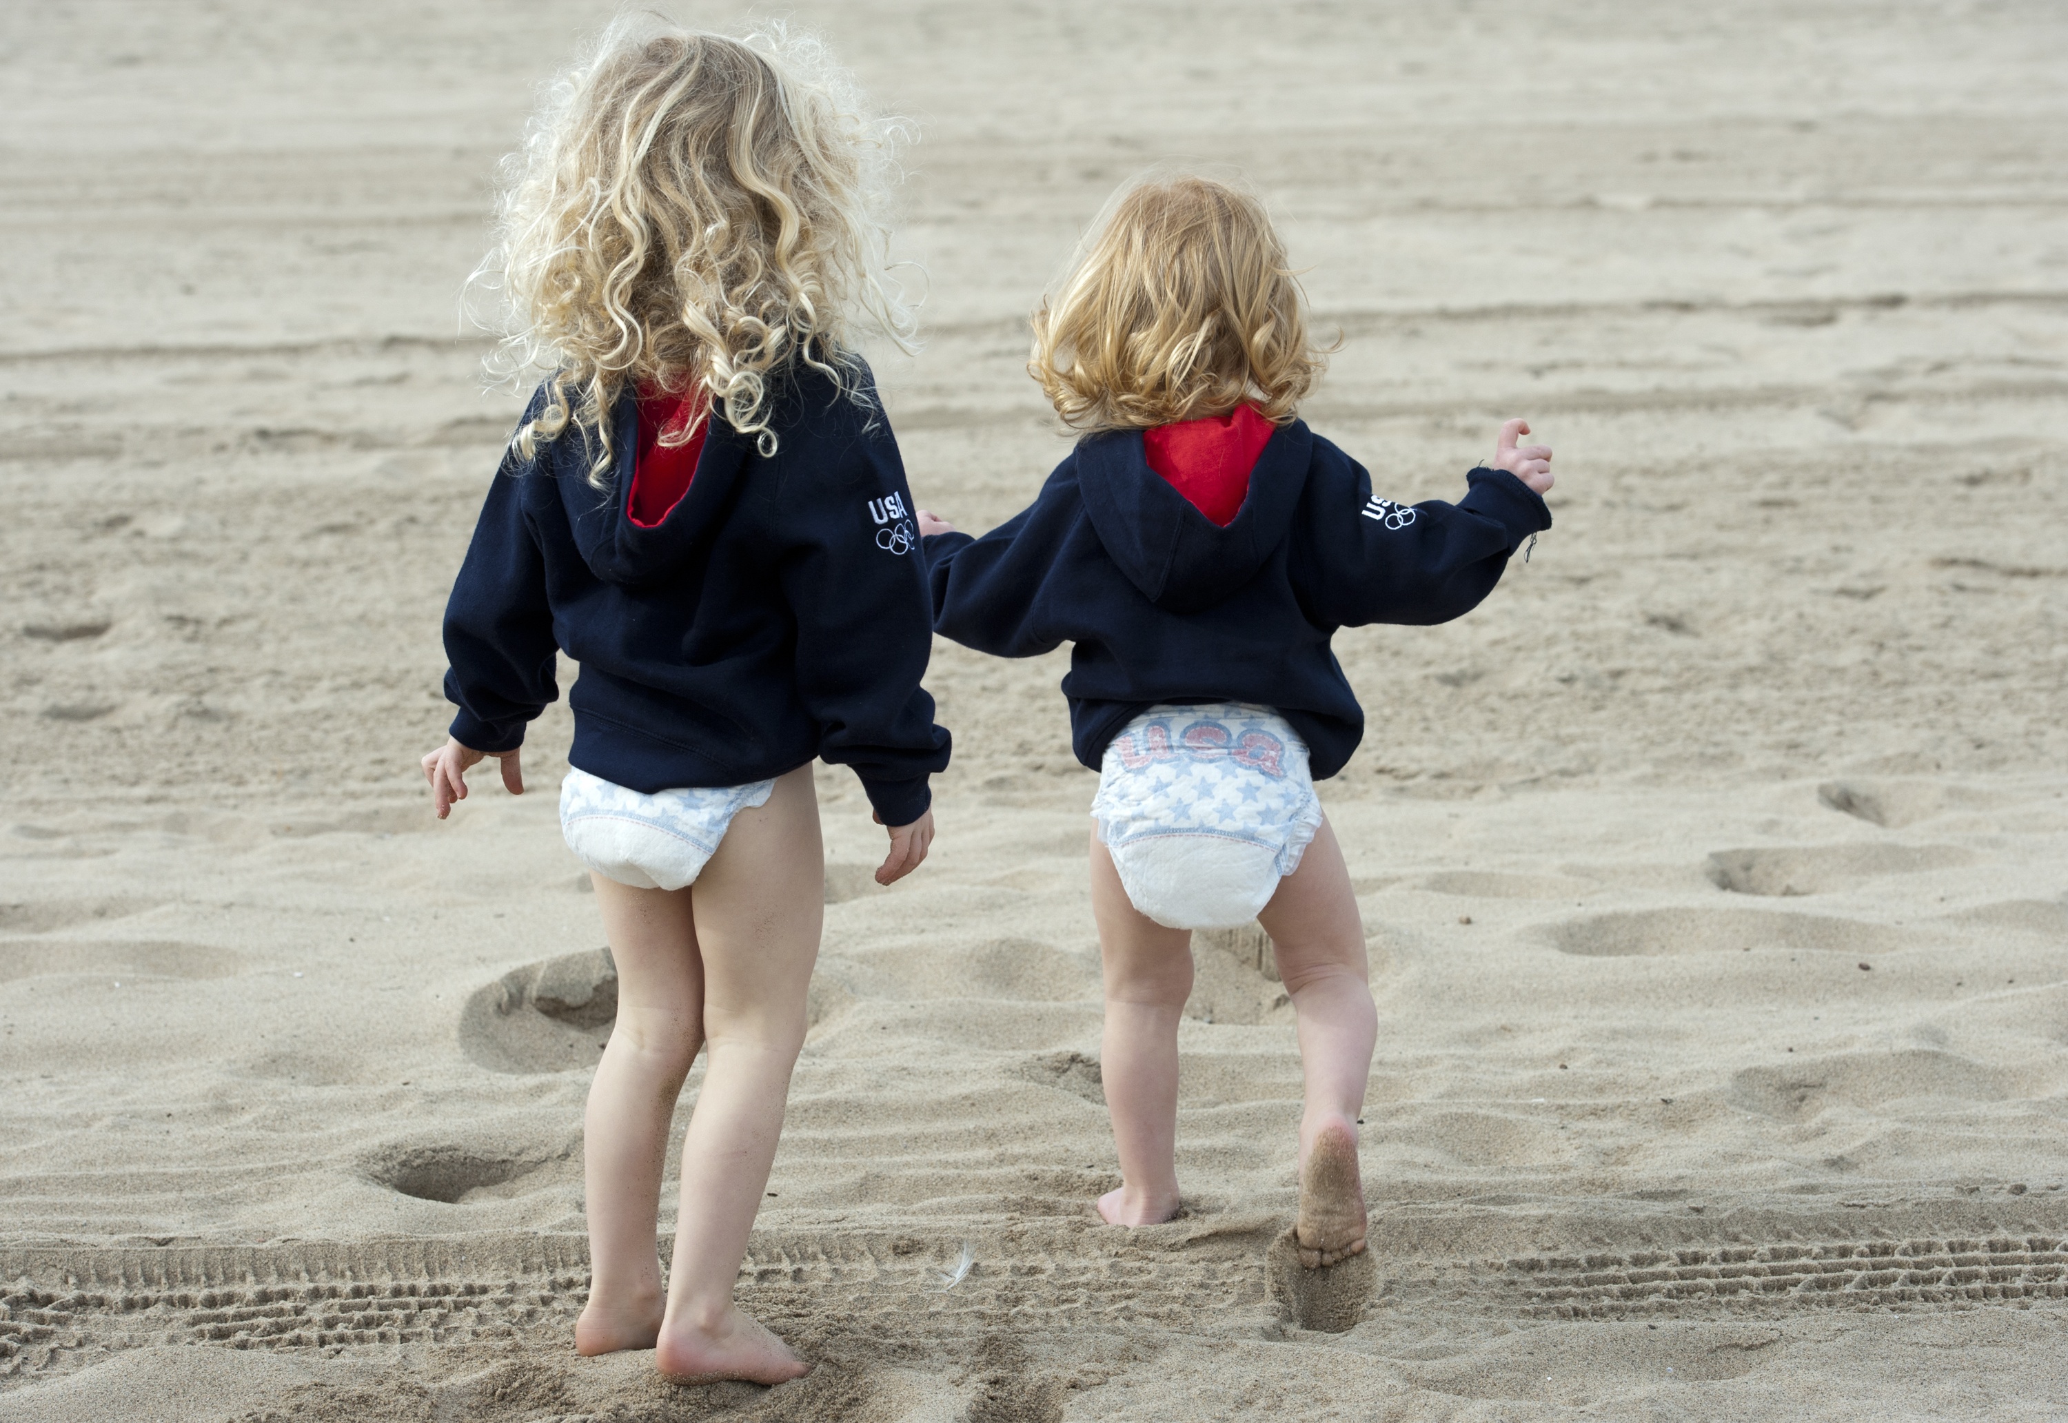
<path fill-rule="evenodd" d="M 424 757 L 443 819 L 579 666 L 569 848 L 591 871 L 618 1016 L 589 1088 L 585 1355 L 672 1377 L 804 1371 L 732 1303 L 767 1185 L 823 852 L 811 763 L 860 778 L 891 883 L 933 838 L 947 732 L 922 691 L 931 606 L 898 445 L 858 333 L 910 335 L 883 279 L 893 124 L 813 41 L 612 25 L 511 161 L 505 356 L 531 397 L 445 616 L 457 703 Z M 682 1144 L 674 1266 L 656 1212 Z"/>

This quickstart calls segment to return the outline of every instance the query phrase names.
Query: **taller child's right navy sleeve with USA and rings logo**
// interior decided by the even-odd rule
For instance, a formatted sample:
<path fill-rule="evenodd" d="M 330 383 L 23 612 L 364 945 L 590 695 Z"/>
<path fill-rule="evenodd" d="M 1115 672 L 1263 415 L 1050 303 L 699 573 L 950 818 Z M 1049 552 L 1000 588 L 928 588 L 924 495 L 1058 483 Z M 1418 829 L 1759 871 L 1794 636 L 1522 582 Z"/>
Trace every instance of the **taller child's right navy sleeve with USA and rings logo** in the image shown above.
<path fill-rule="evenodd" d="M 784 519 L 794 534 L 782 587 L 796 616 L 796 687 L 819 722 L 819 755 L 860 778 L 885 825 L 910 825 L 933 805 L 926 778 L 949 757 L 920 687 L 933 618 L 912 492 L 887 428 L 858 430 L 840 465 L 811 478 Z"/>

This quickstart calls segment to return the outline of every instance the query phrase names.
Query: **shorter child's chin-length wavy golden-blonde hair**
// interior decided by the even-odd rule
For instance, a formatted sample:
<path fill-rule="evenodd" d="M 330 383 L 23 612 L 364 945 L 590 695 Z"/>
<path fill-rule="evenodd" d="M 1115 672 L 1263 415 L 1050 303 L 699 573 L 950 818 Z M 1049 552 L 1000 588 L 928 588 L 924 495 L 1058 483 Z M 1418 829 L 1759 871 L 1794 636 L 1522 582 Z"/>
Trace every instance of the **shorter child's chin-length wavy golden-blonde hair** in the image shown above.
<path fill-rule="evenodd" d="M 1253 401 L 1286 424 L 1326 368 L 1272 217 L 1233 182 L 1123 188 L 1034 312 L 1028 374 L 1063 424 L 1142 430 Z"/>

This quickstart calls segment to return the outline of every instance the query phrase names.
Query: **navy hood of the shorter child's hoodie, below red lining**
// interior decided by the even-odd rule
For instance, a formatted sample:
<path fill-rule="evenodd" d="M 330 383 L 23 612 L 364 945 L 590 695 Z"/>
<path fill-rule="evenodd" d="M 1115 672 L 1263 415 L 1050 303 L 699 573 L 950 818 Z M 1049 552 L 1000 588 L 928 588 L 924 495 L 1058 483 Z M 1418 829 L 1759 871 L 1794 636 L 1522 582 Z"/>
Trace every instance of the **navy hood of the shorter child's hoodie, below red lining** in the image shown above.
<path fill-rule="evenodd" d="M 1079 443 L 1077 488 L 1098 542 L 1127 581 L 1166 612 L 1202 612 L 1253 579 L 1286 540 L 1311 455 L 1307 422 L 1280 426 L 1257 455 L 1249 494 L 1228 527 L 1216 525 L 1150 470 L 1142 430 L 1113 430 Z"/>

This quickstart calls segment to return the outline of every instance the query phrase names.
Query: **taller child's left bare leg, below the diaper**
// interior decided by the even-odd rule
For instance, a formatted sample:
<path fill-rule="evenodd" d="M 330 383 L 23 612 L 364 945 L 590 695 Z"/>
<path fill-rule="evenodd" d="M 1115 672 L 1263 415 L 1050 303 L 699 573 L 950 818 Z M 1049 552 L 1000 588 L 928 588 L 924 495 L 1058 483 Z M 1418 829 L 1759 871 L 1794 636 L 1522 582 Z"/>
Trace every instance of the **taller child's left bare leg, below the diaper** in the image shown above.
<path fill-rule="evenodd" d="M 618 966 L 618 1020 L 583 1129 L 591 1280 L 575 1351 L 606 1355 L 660 1336 L 653 1216 L 674 1100 L 703 1042 L 703 962 L 687 889 L 591 879 Z"/>

